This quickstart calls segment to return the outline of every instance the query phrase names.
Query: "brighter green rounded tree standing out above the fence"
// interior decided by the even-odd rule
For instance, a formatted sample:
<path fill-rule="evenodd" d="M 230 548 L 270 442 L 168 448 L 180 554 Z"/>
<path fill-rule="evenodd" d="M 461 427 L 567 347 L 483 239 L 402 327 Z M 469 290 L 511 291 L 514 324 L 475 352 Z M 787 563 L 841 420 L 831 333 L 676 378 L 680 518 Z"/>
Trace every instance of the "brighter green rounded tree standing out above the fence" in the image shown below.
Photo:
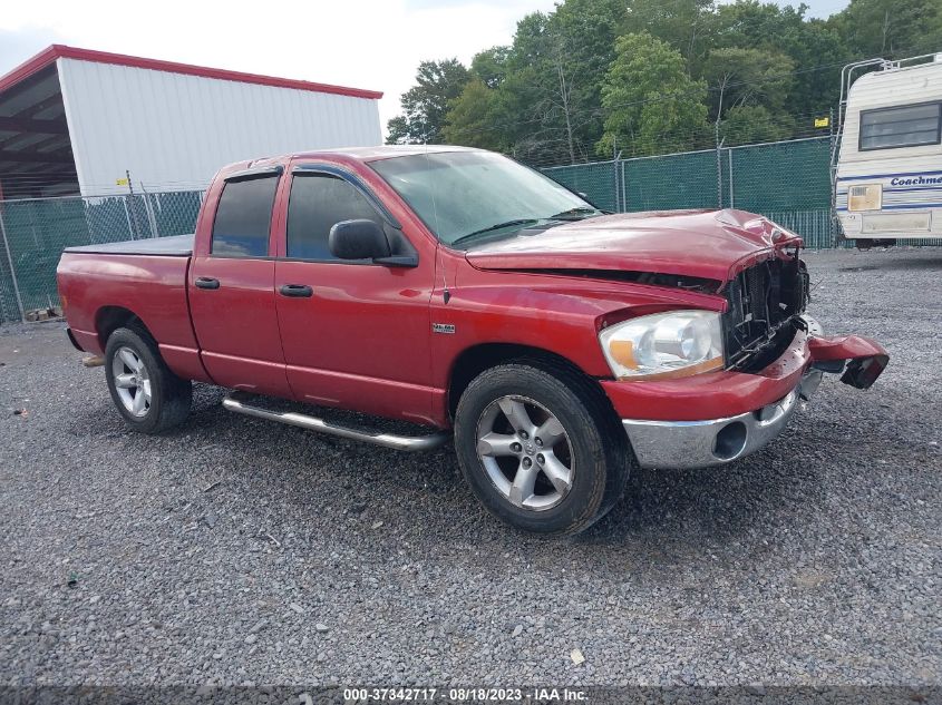
<path fill-rule="evenodd" d="M 690 148 L 707 128 L 707 87 L 687 75 L 683 57 L 647 32 L 615 42 L 602 85 L 604 133 L 599 154 L 619 145 L 631 154 Z"/>

